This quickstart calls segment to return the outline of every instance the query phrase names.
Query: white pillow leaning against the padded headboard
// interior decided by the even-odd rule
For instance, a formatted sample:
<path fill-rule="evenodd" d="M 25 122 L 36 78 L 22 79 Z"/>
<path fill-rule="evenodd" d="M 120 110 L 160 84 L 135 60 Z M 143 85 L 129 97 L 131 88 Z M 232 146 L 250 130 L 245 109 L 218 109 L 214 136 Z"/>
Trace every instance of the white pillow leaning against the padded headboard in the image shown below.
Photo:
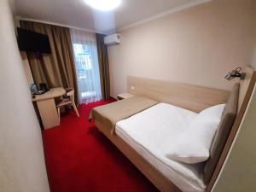
<path fill-rule="evenodd" d="M 166 157 L 189 164 L 207 160 L 224 106 L 221 104 L 201 111 L 188 129 L 173 141 Z"/>

